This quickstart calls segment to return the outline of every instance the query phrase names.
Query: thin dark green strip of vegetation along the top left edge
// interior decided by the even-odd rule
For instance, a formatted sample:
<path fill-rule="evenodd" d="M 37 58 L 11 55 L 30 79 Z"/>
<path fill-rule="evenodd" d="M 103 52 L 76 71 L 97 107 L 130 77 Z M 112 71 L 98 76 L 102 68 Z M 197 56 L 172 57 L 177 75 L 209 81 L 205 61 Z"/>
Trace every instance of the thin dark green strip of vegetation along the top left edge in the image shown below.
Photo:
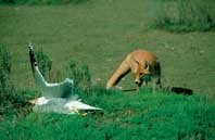
<path fill-rule="evenodd" d="M 8 4 L 78 4 L 89 0 L 0 0 L 0 3 Z"/>

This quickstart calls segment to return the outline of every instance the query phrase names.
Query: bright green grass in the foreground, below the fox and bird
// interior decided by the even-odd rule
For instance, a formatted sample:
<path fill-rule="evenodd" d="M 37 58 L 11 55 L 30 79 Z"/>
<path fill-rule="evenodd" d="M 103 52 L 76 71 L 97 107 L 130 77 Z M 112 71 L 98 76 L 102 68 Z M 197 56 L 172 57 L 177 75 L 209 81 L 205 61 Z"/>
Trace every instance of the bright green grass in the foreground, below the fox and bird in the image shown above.
<path fill-rule="evenodd" d="M 60 115 L 30 113 L 13 122 L 0 123 L 1 139 L 104 139 L 104 140 L 186 140 L 215 138 L 215 104 L 198 96 L 174 93 L 98 92 L 88 103 L 103 113 Z"/>

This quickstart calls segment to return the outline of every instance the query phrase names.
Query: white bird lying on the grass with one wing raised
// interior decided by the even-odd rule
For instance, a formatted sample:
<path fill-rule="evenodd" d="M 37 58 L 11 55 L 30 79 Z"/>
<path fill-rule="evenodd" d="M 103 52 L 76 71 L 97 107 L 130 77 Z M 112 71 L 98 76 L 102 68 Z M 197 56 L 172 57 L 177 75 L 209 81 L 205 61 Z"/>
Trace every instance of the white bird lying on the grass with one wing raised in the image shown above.
<path fill-rule="evenodd" d="M 66 78 L 64 81 L 55 84 L 46 81 L 38 68 L 31 43 L 29 43 L 29 59 L 36 86 L 42 94 L 42 97 L 30 101 L 35 104 L 34 111 L 75 114 L 79 110 L 101 110 L 78 100 L 78 96 L 73 93 L 72 79 Z"/>

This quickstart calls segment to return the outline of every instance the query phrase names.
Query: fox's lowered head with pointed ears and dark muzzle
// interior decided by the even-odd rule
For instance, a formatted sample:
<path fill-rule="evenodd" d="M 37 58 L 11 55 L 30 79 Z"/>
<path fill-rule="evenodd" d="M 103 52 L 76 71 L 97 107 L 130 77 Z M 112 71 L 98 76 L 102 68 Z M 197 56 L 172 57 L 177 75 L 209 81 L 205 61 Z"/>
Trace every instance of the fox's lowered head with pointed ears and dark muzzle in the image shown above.
<path fill-rule="evenodd" d="M 135 62 L 136 62 L 136 67 L 134 69 L 135 84 L 141 85 L 143 77 L 151 74 L 150 64 L 148 62 L 143 62 L 143 63 L 140 63 L 138 61 Z"/>

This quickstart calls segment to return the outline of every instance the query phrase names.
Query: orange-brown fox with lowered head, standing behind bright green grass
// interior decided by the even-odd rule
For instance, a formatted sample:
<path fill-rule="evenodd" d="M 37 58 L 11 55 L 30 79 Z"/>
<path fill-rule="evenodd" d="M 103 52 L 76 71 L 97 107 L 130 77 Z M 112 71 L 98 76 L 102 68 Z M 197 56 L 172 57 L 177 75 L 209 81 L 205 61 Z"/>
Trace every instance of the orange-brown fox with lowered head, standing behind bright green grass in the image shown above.
<path fill-rule="evenodd" d="M 161 65 L 157 58 L 149 51 L 136 50 L 129 53 L 114 72 L 106 82 L 106 89 L 115 86 L 130 71 L 138 87 L 142 82 L 148 85 L 150 80 L 153 80 L 153 89 L 156 85 L 161 87 Z"/>

